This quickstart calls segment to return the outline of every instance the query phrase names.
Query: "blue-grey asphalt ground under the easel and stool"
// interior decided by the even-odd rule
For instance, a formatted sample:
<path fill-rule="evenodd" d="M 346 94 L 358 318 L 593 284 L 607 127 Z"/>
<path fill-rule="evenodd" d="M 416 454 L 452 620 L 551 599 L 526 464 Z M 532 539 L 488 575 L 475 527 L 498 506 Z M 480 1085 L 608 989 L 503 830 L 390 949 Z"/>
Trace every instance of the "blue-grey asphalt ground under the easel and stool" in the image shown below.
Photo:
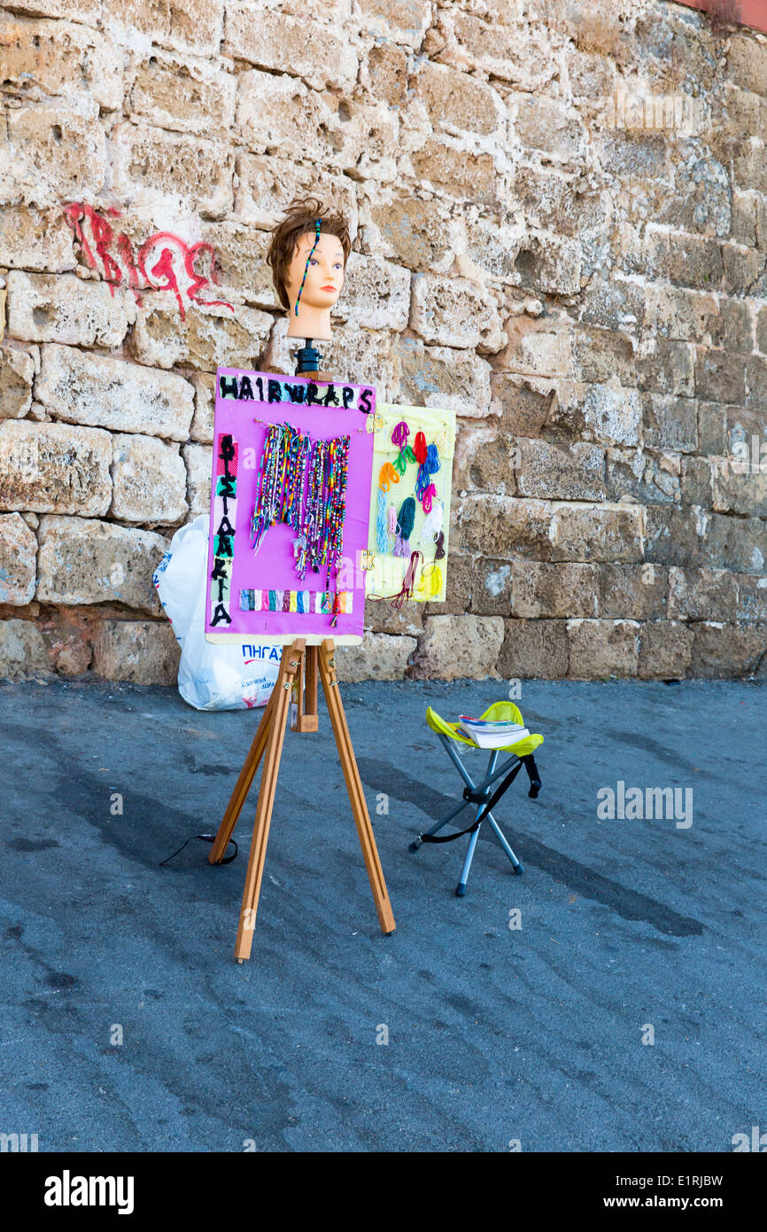
<path fill-rule="evenodd" d="M 409 851 L 462 787 L 424 715 L 505 687 L 342 689 L 388 938 L 327 716 L 288 732 L 240 965 L 256 787 L 236 860 L 193 840 L 160 861 L 215 830 L 260 712 L 0 685 L 0 1131 L 39 1151 L 730 1152 L 767 1130 L 765 685 L 524 681 L 543 787 L 522 772 L 496 809 L 524 875 L 485 824 L 458 898 L 465 838 Z M 689 808 L 600 817 L 618 781 Z"/>

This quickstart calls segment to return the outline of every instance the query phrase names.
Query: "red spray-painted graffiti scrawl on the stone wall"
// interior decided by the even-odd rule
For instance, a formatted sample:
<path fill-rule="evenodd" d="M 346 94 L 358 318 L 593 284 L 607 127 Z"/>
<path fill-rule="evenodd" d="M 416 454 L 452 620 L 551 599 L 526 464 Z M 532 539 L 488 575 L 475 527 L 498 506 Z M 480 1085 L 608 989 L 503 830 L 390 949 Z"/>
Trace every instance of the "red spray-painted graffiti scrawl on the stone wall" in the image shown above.
<path fill-rule="evenodd" d="M 119 209 L 106 211 L 113 218 Z M 185 297 L 195 304 L 234 308 L 225 299 L 201 299 L 211 283 L 218 283 L 218 260 L 212 244 L 199 240 L 187 244 L 172 232 L 155 232 L 144 240 L 133 255 L 133 245 L 124 233 L 114 239 L 114 233 L 103 214 L 84 201 L 73 201 L 64 207 L 64 217 L 80 245 L 82 256 L 92 270 L 98 270 L 110 291 L 128 286 L 142 307 L 143 291 L 172 291 L 179 304 L 181 320 L 186 320 Z M 195 262 L 204 260 L 208 274 L 197 274 Z"/>

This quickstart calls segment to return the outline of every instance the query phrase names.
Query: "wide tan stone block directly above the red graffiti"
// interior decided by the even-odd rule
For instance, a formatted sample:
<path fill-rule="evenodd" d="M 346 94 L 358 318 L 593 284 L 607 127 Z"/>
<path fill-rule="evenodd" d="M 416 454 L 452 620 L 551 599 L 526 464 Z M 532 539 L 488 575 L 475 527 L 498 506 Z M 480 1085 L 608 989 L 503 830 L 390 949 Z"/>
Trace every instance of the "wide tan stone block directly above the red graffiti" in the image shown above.
<path fill-rule="evenodd" d="M 112 188 L 135 208 L 181 196 L 207 218 L 231 211 L 234 154 L 224 142 L 122 123 L 110 144 Z"/>

